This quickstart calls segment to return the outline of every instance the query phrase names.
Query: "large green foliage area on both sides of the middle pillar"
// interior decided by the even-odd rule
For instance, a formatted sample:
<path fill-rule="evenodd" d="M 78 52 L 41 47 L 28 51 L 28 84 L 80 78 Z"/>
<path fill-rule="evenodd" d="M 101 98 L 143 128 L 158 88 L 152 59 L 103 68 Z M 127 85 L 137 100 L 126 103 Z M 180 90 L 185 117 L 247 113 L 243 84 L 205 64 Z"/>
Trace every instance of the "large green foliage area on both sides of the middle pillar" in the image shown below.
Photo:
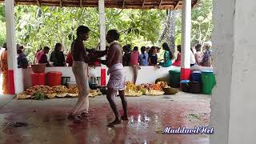
<path fill-rule="evenodd" d="M 80 25 L 90 28 L 90 38 L 86 42 L 88 48 L 96 47 L 99 42 L 97 8 L 17 6 L 15 17 L 18 42 L 26 46 L 30 61 L 39 47 L 53 49 L 56 42 L 61 42 L 64 50 L 69 50 Z M 119 30 L 121 44 L 153 45 L 158 40 L 164 17 L 163 10 L 106 9 L 106 30 Z"/>

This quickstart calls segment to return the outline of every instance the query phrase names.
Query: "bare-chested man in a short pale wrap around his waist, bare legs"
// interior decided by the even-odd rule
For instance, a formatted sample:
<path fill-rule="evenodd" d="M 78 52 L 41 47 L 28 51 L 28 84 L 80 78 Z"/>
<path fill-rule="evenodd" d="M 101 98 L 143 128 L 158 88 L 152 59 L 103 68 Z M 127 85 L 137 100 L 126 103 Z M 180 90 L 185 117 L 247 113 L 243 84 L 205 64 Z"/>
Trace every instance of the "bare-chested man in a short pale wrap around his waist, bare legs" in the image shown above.
<path fill-rule="evenodd" d="M 114 111 L 115 120 L 110 122 L 108 126 L 114 126 L 120 124 L 122 120 L 128 120 L 127 118 L 127 102 L 125 97 L 125 74 L 122 66 L 122 47 L 118 44 L 119 33 L 118 30 L 109 30 L 106 34 L 106 41 L 110 43 L 110 48 L 107 54 L 106 64 L 109 67 L 108 74 L 110 74 L 110 80 L 107 84 L 108 94 L 107 100 L 110 102 L 110 106 Z M 114 102 L 114 98 L 119 96 L 122 100 L 122 108 L 124 114 L 122 120 L 118 114 L 117 106 Z"/>

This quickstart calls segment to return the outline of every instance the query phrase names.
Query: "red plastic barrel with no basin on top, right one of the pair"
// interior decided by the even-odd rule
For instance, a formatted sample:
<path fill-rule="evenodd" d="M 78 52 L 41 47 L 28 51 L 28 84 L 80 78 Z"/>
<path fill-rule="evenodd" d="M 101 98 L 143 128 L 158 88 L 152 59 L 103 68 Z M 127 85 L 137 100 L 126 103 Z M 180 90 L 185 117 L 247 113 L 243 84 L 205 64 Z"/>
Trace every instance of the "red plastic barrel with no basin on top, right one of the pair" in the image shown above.
<path fill-rule="evenodd" d="M 47 85 L 48 86 L 61 86 L 62 85 L 62 73 L 58 71 L 50 71 L 47 73 Z"/>

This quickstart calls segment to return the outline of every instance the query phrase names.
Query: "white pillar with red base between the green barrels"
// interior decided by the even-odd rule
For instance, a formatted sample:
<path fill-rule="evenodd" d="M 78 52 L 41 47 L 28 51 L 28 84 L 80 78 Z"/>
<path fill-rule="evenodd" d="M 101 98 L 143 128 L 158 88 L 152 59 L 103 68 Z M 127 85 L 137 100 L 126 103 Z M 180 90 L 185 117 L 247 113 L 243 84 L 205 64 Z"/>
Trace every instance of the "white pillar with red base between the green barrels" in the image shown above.
<path fill-rule="evenodd" d="M 182 62 L 181 79 L 190 78 L 190 37 L 191 37 L 191 0 L 182 1 Z"/>

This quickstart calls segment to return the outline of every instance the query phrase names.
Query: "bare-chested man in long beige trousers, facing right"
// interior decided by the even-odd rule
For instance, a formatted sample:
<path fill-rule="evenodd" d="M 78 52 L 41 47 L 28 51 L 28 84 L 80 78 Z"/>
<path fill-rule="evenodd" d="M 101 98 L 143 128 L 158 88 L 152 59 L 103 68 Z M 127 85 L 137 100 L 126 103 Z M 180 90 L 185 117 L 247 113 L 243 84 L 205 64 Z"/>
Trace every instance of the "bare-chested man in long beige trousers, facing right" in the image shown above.
<path fill-rule="evenodd" d="M 78 102 L 74 106 L 69 118 L 74 121 L 81 121 L 82 117 L 88 116 L 89 109 L 89 83 L 88 83 L 88 62 L 90 60 L 83 44 L 89 38 L 89 28 L 79 26 L 77 30 L 78 38 L 71 46 L 73 58 L 72 70 L 78 86 Z M 106 54 L 106 52 L 104 52 Z M 104 55 L 104 54 L 103 54 Z M 102 55 L 102 56 L 103 56 Z"/>

